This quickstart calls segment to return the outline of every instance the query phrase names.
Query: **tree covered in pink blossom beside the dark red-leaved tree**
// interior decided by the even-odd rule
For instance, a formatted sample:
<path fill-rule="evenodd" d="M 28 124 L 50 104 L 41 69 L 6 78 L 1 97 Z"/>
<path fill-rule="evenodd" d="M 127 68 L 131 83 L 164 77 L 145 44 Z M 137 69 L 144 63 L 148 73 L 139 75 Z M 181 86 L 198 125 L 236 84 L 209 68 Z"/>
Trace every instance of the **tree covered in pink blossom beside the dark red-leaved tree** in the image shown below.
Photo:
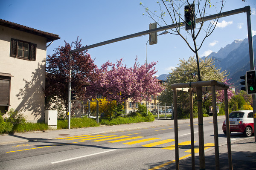
<path fill-rule="evenodd" d="M 107 62 L 96 70 L 99 78 L 91 82 L 90 87 L 87 88 L 92 96 L 101 94 L 104 97 L 115 100 L 118 103 L 127 101 L 131 98 L 133 102 L 140 102 L 148 95 L 157 95 L 162 92 L 163 87 L 159 84 L 157 78 L 153 75 L 155 71 L 155 62 L 140 66 L 135 60 L 134 66 L 128 68 L 122 64 L 122 59 L 117 63 Z M 148 93 L 146 93 L 148 89 Z"/>

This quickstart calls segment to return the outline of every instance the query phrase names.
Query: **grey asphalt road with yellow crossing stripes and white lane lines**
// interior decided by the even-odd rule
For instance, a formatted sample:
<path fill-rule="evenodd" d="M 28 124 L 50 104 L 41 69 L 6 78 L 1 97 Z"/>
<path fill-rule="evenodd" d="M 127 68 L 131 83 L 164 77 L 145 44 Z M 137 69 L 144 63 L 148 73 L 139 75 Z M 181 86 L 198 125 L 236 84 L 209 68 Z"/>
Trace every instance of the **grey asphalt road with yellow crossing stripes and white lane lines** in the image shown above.
<path fill-rule="evenodd" d="M 219 145 L 226 136 L 218 120 Z M 190 156 L 190 124 L 179 124 L 179 157 Z M 194 125 L 195 148 L 198 124 Z M 243 138 L 234 133 L 231 140 Z M 174 125 L 96 135 L 79 135 L 0 146 L 2 170 L 149 170 L 164 164 L 175 168 Z M 205 151 L 214 147 L 212 121 L 204 122 Z M 195 149 L 198 155 L 198 149 Z"/>

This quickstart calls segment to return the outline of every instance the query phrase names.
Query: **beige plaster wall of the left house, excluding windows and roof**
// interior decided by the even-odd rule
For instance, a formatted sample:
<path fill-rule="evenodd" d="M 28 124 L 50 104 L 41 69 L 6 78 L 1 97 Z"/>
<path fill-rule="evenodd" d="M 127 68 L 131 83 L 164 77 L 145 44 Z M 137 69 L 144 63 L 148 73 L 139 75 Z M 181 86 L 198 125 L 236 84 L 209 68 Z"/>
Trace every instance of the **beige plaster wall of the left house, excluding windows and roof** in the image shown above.
<path fill-rule="evenodd" d="M 36 61 L 10 57 L 11 38 L 35 43 Z M 9 110 L 23 113 L 32 122 L 44 120 L 46 43 L 45 37 L 0 26 L 0 72 L 13 76 Z"/>

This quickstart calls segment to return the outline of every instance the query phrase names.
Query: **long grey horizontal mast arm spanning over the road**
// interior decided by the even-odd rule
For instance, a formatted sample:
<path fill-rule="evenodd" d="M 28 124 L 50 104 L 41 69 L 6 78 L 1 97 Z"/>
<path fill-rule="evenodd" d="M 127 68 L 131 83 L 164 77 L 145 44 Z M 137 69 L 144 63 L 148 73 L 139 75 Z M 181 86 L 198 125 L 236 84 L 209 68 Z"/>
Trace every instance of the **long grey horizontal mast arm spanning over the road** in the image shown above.
<path fill-rule="evenodd" d="M 249 10 L 250 10 L 250 6 L 245 6 L 244 8 L 234 9 L 234 10 L 231 10 L 231 11 L 222 12 L 220 14 L 213 14 L 213 15 L 210 15 L 210 16 L 207 16 L 207 17 L 204 17 L 204 18 L 197 18 L 196 23 L 202 22 L 202 20 L 204 20 L 204 21 L 214 20 L 217 17 L 227 17 L 227 16 L 230 16 L 230 15 L 247 12 Z M 182 22 L 181 26 L 184 26 L 184 24 L 185 23 Z M 74 49 L 74 50 L 71 50 L 69 53 L 73 54 L 74 52 L 84 51 L 86 49 L 92 49 L 92 48 L 95 48 L 95 47 L 98 47 L 98 46 L 103 46 L 103 45 L 106 45 L 106 44 L 115 43 L 115 42 L 118 42 L 118 41 L 127 40 L 127 39 L 130 39 L 130 38 L 151 34 L 153 32 L 160 32 L 160 31 L 163 31 L 163 30 L 173 29 L 173 28 L 175 28 L 175 26 L 176 27 L 180 26 L 180 24 L 172 24 L 172 25 L 168 25 L 168 26 L 162 26 L 160 28 L 146 30 L 146 31 L 143 31 L 143 32 L 137 32 L 137 33 L 134 33 L 134 34 L 131 34 L 131 35 L 126 35 L 126 36 L 119 37 L 119 38 L 114 38 L 112 40 L 103 41 L 101 43 L 96 43 L 96 44 L 93 44 L 93 45 L 90 45 L 90 46 L 84 46 L 84 47 L 81 47 L 79 49 Z"/>

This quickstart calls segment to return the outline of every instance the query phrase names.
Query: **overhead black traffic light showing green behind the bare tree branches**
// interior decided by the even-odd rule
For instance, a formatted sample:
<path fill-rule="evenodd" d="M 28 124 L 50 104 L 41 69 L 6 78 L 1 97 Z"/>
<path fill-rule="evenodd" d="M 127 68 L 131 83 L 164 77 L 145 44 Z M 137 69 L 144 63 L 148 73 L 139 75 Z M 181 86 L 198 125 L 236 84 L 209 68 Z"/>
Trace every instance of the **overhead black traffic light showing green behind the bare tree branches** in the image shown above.
<path fill-rule="evenodd" d="M 185 30 L 195 28 L 195 5 L 185 6 Z"/>

